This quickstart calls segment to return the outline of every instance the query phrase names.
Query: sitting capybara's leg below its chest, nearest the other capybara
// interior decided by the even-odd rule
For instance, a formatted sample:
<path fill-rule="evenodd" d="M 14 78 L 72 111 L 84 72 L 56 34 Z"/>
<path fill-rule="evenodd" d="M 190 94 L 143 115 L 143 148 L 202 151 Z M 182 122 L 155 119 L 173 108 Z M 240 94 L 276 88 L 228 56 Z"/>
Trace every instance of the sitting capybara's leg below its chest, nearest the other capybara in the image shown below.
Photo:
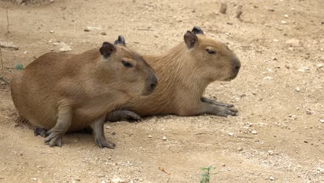
<path fill-rule="evenodd" d="M 91 128 L 93 129 L 93 135 L 95 138 L 95 143 L 100 148 L 115 148 L 115 144 L 107 141 L 104 133 L 104 123 L 105 123 L 105 116 L 102 116 L 100 119 L 97 119 L 93 123 L 91 123 Z"/>

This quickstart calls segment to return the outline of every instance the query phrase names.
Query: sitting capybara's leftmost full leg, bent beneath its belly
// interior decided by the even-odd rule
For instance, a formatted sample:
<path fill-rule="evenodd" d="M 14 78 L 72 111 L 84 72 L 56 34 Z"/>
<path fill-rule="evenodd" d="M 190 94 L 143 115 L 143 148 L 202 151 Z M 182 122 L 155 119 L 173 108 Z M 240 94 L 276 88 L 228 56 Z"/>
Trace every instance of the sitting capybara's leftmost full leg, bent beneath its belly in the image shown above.
<path fill-rule="evenodd" d="M 60 106 L 56 125 L 48 130 L 48 137 L 45 138 L 45 143 L 48 146 L 62 146 L 62 137 L 71 125 L 72 111 L 69 106 Z"/>

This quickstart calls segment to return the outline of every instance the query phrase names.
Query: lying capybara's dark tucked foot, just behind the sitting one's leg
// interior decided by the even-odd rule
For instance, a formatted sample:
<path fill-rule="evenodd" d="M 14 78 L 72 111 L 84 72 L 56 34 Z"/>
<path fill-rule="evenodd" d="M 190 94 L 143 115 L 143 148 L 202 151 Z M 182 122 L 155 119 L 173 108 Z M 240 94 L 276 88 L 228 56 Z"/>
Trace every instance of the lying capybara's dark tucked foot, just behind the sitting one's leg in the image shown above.
<path fill-rule="evenodd" d="M 106 117 L 106 121 L 110 122 L 122 121 L 123 119 L 138 121 L 141 120 L 141 116 L 129 110 L 118 110 L 109 112 Z"/>

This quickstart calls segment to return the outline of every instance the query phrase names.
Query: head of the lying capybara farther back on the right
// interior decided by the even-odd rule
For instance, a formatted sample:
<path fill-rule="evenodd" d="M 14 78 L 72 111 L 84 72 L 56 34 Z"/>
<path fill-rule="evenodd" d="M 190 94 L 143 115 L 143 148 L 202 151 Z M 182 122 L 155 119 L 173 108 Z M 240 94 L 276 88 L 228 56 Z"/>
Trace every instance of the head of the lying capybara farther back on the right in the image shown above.
<path fill-rule="evenodd" d="M 241 63 L 228 46 L 204 35 L 203 30 L 195 26 L 184 35 L 190 58 L 195 68 L 211 81 L 233 80 L 240 70 Z"/>

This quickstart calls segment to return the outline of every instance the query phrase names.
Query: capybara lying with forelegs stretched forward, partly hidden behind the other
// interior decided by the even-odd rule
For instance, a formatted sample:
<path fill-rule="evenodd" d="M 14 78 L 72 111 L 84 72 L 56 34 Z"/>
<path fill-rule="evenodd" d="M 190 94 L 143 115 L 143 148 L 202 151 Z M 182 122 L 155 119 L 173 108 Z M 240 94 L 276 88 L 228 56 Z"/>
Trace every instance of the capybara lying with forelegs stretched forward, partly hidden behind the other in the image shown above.
<path fill-rule="evenodd" d="M 240 60 L 225 44 L 204 35 L 195 26 L 184 35 L 184 42 L 160 55 L 143 56 L 156 72 L 159 86 L 150 96 L 133 98 L 120 110 L 107 115 L 107 121 L 141 119 L 141 116 L 214 114 L 235 116 L 233 105 L 212 101 L 202 95 L 215 80 L 233 80 Z"/>

